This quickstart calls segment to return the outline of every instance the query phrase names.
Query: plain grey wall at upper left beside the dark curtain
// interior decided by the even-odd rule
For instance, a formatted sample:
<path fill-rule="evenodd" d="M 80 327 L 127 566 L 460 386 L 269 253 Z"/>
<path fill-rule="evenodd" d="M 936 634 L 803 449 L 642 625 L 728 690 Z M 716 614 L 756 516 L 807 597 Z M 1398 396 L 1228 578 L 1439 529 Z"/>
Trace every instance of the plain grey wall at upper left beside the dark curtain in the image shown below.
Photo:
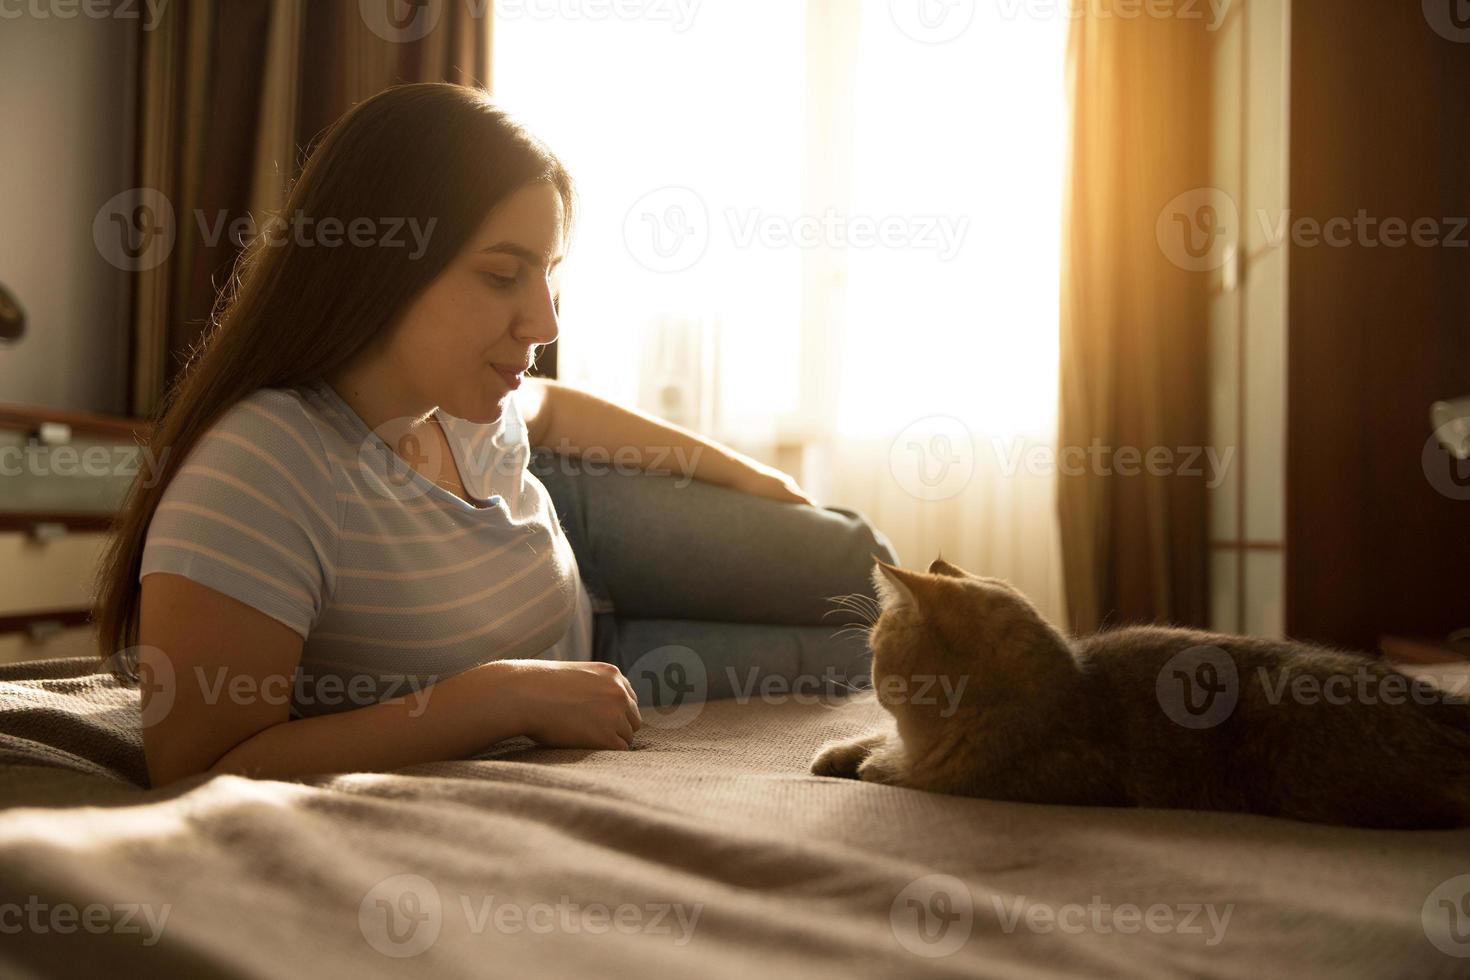
<path fill-rule="evenodd" d="M 0 403 L 123 408 L 128 281 L 93 244 L 93 219 L 129 187 L 137 31 L 0 19 L 0 282 L 28 314 L 25 336 L 0 344 Z"/>

